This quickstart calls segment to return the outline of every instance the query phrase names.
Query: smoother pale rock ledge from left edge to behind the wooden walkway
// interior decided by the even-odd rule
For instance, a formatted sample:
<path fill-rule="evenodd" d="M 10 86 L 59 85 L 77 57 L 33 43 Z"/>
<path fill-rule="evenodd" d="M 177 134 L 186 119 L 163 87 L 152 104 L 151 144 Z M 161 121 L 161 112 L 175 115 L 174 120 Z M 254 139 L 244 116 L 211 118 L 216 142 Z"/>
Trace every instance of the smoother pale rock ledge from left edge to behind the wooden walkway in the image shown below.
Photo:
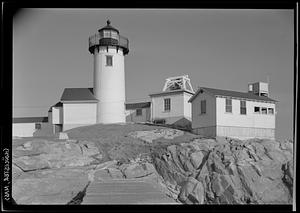
<path fill-rule="evenodd" d="M 92 182 L 138 179 L 168 194 L 149 157 L 101 162 L 94 142 L 32 139 L 13 148 L 12 197 L 17 204 L 81 204 Z"/>

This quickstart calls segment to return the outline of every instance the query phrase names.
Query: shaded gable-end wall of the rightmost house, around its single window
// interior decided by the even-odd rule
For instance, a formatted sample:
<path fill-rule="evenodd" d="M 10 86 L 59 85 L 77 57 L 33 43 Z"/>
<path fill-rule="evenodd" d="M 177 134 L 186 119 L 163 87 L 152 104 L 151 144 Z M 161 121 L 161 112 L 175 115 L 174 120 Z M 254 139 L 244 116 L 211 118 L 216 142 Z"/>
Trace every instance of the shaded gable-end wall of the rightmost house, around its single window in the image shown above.
<path fill-rule="evenodd" d="M 206 113 L 201 114 L 200 103 L 206 100 Z M 206 93 L 199 94 L 192 102 L 192 128 L 216 126 L 216 98 Z"/>

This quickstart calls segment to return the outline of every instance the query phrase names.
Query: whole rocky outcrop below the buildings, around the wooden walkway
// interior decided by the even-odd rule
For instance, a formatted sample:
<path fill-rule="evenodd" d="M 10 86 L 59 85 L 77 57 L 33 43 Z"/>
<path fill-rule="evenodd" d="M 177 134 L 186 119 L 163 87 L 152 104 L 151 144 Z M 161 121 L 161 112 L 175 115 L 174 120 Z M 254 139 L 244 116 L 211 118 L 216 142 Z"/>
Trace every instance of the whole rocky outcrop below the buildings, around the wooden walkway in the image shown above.
<path fill-rule="evenodd" d="M 14 140 L 16 203 L 80 204 L 89 183 L 121 179 L 148 181 L 186 204 L 292 202 L 291 141 L 200 138 L 135 125 L 100 127 L 93 130 L 97 139 L 87 139 L 91 129 L 85 127 L 77 130 L 78 138 L 70 132 L 71 139 Z"/>

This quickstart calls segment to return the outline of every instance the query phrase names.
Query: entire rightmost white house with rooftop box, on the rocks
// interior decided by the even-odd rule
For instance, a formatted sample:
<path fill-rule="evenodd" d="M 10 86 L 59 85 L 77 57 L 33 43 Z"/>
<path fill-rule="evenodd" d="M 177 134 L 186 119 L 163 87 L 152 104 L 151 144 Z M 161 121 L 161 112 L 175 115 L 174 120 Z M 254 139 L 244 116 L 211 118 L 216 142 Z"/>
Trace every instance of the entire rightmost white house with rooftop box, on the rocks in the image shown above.
<path fill-rule="evenodd" d="M 275 139 L 275 104 L 268 84 L 249 84 L 248 92 L 200 87 L 192 103 L 192 129 L 196 134 L 238 139 Z"/>

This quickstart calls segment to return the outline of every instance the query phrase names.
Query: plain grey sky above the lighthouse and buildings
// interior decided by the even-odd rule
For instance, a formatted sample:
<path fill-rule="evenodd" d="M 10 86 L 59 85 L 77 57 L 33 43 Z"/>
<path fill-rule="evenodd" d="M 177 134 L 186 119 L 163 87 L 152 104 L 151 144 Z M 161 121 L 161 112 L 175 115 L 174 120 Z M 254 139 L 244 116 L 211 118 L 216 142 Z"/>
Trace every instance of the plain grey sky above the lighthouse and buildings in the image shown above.
<path fill-rule="evenodd" d="M 13 20 L 13 117 L 47 116 L 64 88 L 92 87 L 88 38 L 111 25 L 129 39 L 126 101 L 147 101 L 165 79 L 247 92 L 266 82 L 278 100 L 276 138 L 293 137 L 293 10 L 23 9 Z"/>

